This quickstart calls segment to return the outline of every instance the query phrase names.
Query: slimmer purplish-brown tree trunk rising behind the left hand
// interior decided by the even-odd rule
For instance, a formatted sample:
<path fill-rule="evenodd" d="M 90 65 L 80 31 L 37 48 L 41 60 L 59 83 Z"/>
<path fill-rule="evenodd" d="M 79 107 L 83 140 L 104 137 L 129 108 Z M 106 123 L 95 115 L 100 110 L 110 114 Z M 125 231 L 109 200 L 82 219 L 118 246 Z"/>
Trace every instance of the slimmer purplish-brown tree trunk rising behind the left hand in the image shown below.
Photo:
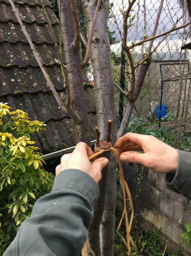
<path fill-rule="evenodd" d="M 91 145 L 87 107 L 85 103 L 82 66 L 78 49 L 72 47 L 75 28 L 72 18 L 71 2 L 62 1 L 61 5 L 62 39 L 68 74 L 68 86 L 72 108 L 80 115 L 81 120 L 72 119 L 75 124 L 75 141 L 83 141 Z"/>

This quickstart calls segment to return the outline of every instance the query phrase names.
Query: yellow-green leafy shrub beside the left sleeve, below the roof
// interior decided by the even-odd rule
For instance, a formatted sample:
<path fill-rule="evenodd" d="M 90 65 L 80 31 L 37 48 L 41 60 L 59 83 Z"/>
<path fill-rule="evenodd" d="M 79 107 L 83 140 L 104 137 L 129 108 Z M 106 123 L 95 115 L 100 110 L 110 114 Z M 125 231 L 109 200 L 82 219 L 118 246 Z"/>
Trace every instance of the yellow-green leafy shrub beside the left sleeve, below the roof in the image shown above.
<path fill-rule="evenodd" d="M 46 126 L 24 111 L 0 103 L 0 255 L 18 226 L 31 215 L 34 202 L 50 191 L 53 175 L 43 168 L 31 135 Z"/>

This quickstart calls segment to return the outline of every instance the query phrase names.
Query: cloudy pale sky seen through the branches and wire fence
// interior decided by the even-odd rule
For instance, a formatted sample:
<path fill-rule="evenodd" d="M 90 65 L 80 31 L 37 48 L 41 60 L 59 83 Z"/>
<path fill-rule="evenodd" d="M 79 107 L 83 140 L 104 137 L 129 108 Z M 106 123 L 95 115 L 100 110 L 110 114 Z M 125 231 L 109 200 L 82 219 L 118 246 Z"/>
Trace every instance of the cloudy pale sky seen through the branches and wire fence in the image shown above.
<path fill-rule="evenodd" d="M 116 0 L 113 1 L 114 6 L 113 6 L 113 12 L 116 15 L 119 27 L 121 29 L 121 31 L 123 31 L 122 28 L 122 14 L 119 11 L 119 8 L 122 8 L 122 1 L 121 0 Z M 128 1 L 124 1 L 124 3 L 126 3 L 126 8 L 128 7 Z M 138 3 L 138 0 L 137 0 Z M 138 4 L 135 3 L 133 6 L 133 11 L 131 12 L 131 16 L 133 14 L 135 14 L 135 19 L 133 21 L 134 25 L 132 27 L 129 28 L 128 30 L 128 39 L 129 41 L 134 40 L 135 37 L 135 31 L 136 31 L 136 23 L 137 23 L 137 11 L 138 11 Z M 143 0 L 140 0 L 140 11 L 139 11 L 139 20 L 138 20 L 138 33 L 137 33 L 137 40 L 141 40 L 143 39 L 143 29 L 144 29 L 144 13 L 143 13 Z M 154 24 L 156 21 L 156 16 L 157 16 L 157 10 L 159 8 L 160 5 L 160 0 L 146 0 L 146 20 L 147 20 L 147 34 L 148 36 L 151 36 L 152 32 L 153 32 L 153 28 L 154 28 Z M 124 10 L 126 9 L 124 7 Z M 160 21 L 159 21 L 159 27 L 158 27 L 158 31 L 157 34 L 163 33 L 164 31 L 169 30 L 170 28 L 172 28 L 174 22 L 176 21 L 177 18 L 179 18 L 182 15 L 182 8 L 179 6 L 178 1 L 177 0 L 165 0 L 164 4 L 163 4 L 163 10 L 160 16 Z M 128 19 L 128 23 L 129 23 L 129 19 Z M 116 37 L 118 40 L 120 40 L 120 36 L 119 36 L 119 32 L 116 29 L 116 24 L 114 22 L 113 18 L 109 19 L 109 28 L 110 30 L 115 30 L 116 31 Z M 182 25 L 183 21 L 181 20 L 178 23 L 179 25 Z M 180 30 L 179 32 L 173 32 L 171 34 L 171 39 L 176 40 L 181 38 L 183 33 L 183 29 Z M 161 39 L 161 38 L 160 38 Z"/>

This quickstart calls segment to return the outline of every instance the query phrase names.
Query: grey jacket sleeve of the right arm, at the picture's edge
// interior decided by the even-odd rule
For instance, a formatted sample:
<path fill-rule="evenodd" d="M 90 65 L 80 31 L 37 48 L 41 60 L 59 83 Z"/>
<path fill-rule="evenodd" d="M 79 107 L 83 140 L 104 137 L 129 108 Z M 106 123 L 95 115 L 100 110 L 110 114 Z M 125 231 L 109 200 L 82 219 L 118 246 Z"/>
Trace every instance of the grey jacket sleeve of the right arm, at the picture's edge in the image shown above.
<path fill-rule="evenodd" d="M 178 169 L 166 174 L 167 188 L 191 200 L 191 153 L 178 150 Z"/>

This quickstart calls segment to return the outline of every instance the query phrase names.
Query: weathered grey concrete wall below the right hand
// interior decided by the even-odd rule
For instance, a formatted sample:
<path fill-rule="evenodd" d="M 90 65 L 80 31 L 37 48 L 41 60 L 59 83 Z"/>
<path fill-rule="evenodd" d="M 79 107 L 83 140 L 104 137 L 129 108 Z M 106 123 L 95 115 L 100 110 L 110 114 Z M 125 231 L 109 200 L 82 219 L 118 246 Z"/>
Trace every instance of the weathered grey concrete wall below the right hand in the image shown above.
<path fill-rule="evenodd" d="M 180 237 L 185 232 L 184 223 L 191 221 L 191 201 L 166 189 L 165 174 L 144 167 L 143 179 L 139 180 L 141 170 L 140 165 L 123 163 L 140 227 L 160 229 L 161 241 L 168 240 L 167 252 L 179 249 L 184 256 L 191 256 L 191 251 L 184 246 L 184 238 Z"/>

